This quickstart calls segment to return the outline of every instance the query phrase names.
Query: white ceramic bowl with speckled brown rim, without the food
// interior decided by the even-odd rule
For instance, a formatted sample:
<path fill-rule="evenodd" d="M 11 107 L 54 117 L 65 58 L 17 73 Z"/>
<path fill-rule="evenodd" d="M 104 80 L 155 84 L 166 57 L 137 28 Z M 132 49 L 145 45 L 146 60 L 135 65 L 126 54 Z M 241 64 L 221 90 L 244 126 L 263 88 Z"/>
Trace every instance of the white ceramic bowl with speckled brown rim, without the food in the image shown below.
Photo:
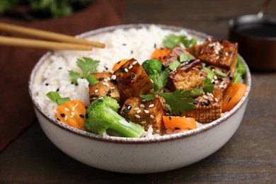
<path fill-rule="evenodd" d="M 88 37 L 102 32 L 109 32 L 116 28 L 140 28 L 149 26 L 119 25 L 108 28 L 92 30 L 80 35 Z M 175 26 L 159 25 L 161 28 L 180 30 Z M 204 33 L 188 30 L 189 34 L 197 38 L 207 38 Z M 154 138 L 122 138 L 122 137 L 100 137 L 97 134 L 77 130 L 62 122 L 54 120 L 43 110 L 35 98 L 33 84 L 41 78 L 43 67 L 47 63 L 47 57 L 52 52 L 47 52 L 36 64 L 30 75 L 29 91 L 33 100 L 35 113 L 40 122 L 42 130 L 47 137 L 59 149 L 72 158 L 86 163 L 89 166 L 107 171 L 120 173 L 156 173 L 170 171 L 183 166 L 188 166 L 204 159 L 221 148 L 236 132 L 243 119 L 248 102 L 248 94 L 251 90 L 251 74 L 246 65 L 247 73 L 245 84 L 247 91 L 240 102 L 229 113 L 196 130 L 178 134 L 165 135 Z M 243 61 L 244 62 L 244 61 Z"/>

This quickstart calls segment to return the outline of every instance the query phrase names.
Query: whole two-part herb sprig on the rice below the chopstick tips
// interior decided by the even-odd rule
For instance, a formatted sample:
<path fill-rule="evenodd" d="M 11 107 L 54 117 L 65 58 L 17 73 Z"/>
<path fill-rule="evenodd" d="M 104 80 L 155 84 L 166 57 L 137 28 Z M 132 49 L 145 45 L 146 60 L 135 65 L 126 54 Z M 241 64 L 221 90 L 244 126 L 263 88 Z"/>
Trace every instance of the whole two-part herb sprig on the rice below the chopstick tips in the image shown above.
<path fill-rule="evenodd" d="M 100 61 L 89 57 L 83 57 L 83 59 L 76 60 L 76 65 L 81 69 L 84 79 L 87 79 L 90 74 L 98 72 L 97 67 L 99 63 Z M 77 79 L 81 78 L 81 74 L 72 70 L 69 71 L 69 76 L 74 84 L 78 84 Z"/>

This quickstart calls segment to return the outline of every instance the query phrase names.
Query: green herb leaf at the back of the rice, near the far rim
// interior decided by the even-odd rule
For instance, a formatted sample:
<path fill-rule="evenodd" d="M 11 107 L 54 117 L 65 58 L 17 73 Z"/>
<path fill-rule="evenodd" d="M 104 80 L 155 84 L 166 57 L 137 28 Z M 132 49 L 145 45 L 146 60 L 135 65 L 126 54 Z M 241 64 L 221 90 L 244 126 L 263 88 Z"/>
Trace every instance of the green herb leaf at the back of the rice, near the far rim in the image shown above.
<path fill-rule="evenodd" d="M 183 44 L 186 48 L 191 47 L 192 45 L 197 44 L 197 40 L 195 38 L 188 39 L 185 35 L 167 35 L 163 40 L 164 47 L 169 49 L 173 48 L 176 45 Z"/>

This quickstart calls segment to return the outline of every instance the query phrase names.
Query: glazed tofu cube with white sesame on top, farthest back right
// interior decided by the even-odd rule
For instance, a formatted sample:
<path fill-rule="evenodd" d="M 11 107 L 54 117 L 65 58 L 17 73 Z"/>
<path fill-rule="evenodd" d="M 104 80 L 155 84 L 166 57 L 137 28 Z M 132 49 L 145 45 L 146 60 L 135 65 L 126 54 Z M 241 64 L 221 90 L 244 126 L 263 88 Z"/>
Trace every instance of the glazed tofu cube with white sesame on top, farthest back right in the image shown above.
<path fill-rule="evenodd" d="M 202 45 L 198 58 L 208 64 L 229 69 L 234 73 L 238 61 L 238 43 L 207 39 Z"/>

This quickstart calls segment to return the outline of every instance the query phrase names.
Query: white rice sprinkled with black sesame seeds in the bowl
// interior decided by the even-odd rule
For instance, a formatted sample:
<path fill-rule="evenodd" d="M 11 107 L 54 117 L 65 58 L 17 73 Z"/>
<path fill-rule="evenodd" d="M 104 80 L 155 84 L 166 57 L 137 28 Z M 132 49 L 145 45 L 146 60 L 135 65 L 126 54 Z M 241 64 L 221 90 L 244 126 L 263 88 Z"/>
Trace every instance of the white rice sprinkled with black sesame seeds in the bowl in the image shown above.
<path fill-rule="evenodd" d="M 57 104 L 46 97 L 50 91 L 59 91 L 60 96 L 69 97 L 71 100 L 82 100 L 88 105 L 88 81 L 78 79 L 78 86 L 71 84 L 69 70 L 77 71 L 81 74 L 81 69 L 76 66 L 76 59 L 91 57 L 100 60 L 98 71 L 110 71 L 115 62 L 121 59 L 134 57 L 139 63 L 149 59 L 156 47 L 163 47 L 162 40 L 166 35 L 190 35 L 185 30 L 173 32 L 172 30 L 162 30 L 156 25 L 149 28 L 130 28 L 128 30 L 117 29 L 111 33 L 100 33 L 93 35 L 88 40 L 105 43 L 105 48 L 93 48 L 89 52 L 83 51 L 59 51 L 52 54 L 42 76 L 42 82 L 35 84 L 33 90 L 37 94 L 39 105 L 47 110 L 55 118 Z M 149 130 L 151 130 L 149 128 Z M 152 132 L 145 132 L 145 136 L 152 135 Z"/>

